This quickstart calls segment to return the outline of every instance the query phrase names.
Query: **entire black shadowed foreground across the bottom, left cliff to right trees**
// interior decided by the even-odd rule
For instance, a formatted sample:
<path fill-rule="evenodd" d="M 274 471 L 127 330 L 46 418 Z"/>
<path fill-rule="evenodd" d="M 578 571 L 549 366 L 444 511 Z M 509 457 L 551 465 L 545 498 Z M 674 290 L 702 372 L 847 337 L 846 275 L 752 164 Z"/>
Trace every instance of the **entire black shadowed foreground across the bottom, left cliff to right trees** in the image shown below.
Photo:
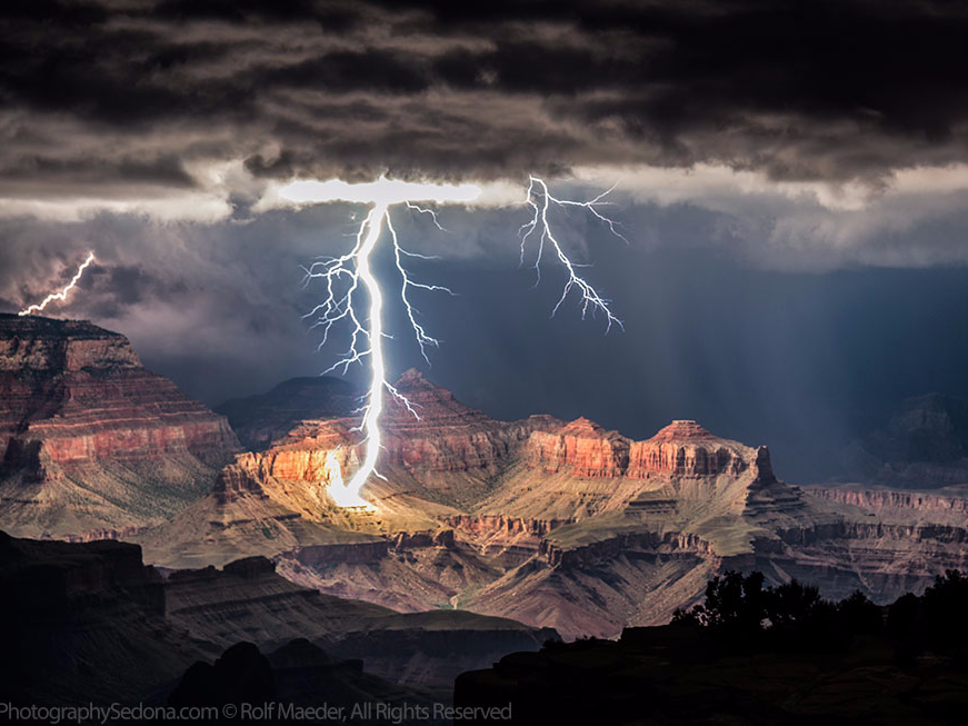
<path fill-rule="evenodd" d="M 616 642 L 525 653 L 495 636 L 519 652 L 458 675 L 452 706 L 470 716 L 460 723 L 960 723 L 966 611 L 957 571 L 887 607 L 729 571 L 671 625 Z M 212 716 L 230 705 L 260 723 L 303 722 L 307 709 L 317 720 L 447 723 L 452 676 L 393 675 L 442 675 L 483 637 L 475 630 L 500 623 L 430 615 L 306 590 L 260 557 L 163 577 L 134 545 L 0 533 L 0 707 L 209 707 L 202 722 L 232 723 Z M 258 710 L 267 704 L 276 710 Z M 489 710 L 496 719 L 480 716 Z"/>

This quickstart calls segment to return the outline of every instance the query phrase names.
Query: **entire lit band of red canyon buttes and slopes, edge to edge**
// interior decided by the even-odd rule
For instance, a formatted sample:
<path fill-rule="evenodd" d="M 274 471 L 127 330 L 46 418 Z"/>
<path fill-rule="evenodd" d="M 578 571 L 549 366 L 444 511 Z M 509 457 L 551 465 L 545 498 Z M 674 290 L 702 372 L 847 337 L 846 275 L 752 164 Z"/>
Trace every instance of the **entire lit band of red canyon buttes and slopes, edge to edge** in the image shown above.
<path fill-rule="evenodd" d="M 356 391 L 342 381 L 296 379 L 220 407 L 249 449 L 241 451 L 226 419 L 176 397 L 120 336 L 42 319 L 12 335 L 6 324 L 4 385 L 29 402 L 4 409 L 17 422 L 7 424 L 0 528 L 13 534 L 120 538 L 164 571 L 204 573 L 258 556 L 273 577 L 303 589 L 421 617 L 510 618 L 566 639 L 666 623 L 727 569 L 757 569 L 771 583 L 797 577 L 834 598 L 859 589 L 884 603 L 968 567 L 957 487 L 930 500 L 870 486 L 797 487 L 777 478 L 766 447 L 696 421 L 672 421 L 646 440 L 586 418 L 498 421 L 417 370 L 395 384 L 416 416 L 391 396 L 385 401 L 380 476 L 363 488 L 375 510 L 339 508 L 326 493 L 327 459 L 350 477 L 362 456 Z M 10 342 L 31 331 L 67 341 L 44 350 L 70 355 L 28 355 L 29 346 Z M 79 357 L 88 362 L 69 362 Z M 33 382 L 16 382 L 24 380 Z M 51 380 L 78 391 L 68 397 L 74 402 L 27 395 L 51 389 Z M 129 380 L 138 386 L 126 388 Z M 122 401 L 138 396 L 147 397 L 138 400 L 153 412 L 142 417 L 150 422 L 124 418 Z M 114 441 L 88 446 L 84 436 L 107 437 L 101 429 Z M 87 447 L 79 461 L 64 454 L 81 450 L 76 439 Z M 23 454 L 31 446 L 36 459 Z M 197 471 L 190 486 L 161 480 L 187 457 Z M 83 516 L 72 514 L 70 526 L 66 515 L 49 514 L 53 505 L 16 501 L 27 499 L 23 491 L 56 501 L 61 483 L 90 470 L 97 476 L 84 481 L 96 503 L 119 467 L 136 471 L 139 460 L 151 471 L 127 498 L 113 497 L 112 516 L 93 516 L 79 494 L 70 506 Z"/>

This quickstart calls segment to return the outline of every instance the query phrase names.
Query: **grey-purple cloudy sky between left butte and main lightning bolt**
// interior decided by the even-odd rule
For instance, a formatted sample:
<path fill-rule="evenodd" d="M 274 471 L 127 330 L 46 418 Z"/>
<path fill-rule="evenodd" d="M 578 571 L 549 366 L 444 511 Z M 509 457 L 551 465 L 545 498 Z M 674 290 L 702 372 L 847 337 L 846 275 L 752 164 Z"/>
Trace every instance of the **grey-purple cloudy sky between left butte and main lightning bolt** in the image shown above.
<path fill-rule="evenodd" d="M 352 211 L 270 212 L 248 225 L 108 213 L 70 223 L 3 220 L 0 309 L 61 289 L 93 249 L 96 262 L 48 314 L 123 332 L 149 368 L 214 404 L 331 362 L 302 317 L 319 289 L 303 289 L 301 266 L 341 249 Z"/>

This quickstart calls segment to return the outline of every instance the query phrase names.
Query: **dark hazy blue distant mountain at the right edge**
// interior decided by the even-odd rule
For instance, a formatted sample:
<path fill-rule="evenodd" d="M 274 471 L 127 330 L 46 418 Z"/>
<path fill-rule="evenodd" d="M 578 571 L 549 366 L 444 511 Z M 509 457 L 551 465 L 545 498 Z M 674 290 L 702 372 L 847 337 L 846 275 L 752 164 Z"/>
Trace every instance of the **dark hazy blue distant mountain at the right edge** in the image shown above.
<path fill-rule="evenodd" d="M 845 455 L 847 478 L 898 488 L 968 485 L 968 399 L 928 394 L 904 400 Z"/>

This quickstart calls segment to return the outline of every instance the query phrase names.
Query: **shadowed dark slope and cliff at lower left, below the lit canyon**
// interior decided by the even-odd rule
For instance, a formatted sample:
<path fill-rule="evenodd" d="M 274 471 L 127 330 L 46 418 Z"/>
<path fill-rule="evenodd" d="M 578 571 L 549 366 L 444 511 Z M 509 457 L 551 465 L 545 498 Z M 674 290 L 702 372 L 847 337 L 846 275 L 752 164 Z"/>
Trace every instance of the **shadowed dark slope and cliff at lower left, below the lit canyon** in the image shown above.
<path fill-rule="evenodd" d="M 166 577 L 127 543 L 2 531 L 0 616 L 0 695 L 13 703 L 163 703 L 192 664 L 242 642 L 342 663 L 318 686 L 336 678 L 355 687 L 357 700 L 407 695 L 399 684 L 446 697 L 459 673 L 556 638 L 502 618 L 400 614 L 325 595 L 260 557 Z"/>

